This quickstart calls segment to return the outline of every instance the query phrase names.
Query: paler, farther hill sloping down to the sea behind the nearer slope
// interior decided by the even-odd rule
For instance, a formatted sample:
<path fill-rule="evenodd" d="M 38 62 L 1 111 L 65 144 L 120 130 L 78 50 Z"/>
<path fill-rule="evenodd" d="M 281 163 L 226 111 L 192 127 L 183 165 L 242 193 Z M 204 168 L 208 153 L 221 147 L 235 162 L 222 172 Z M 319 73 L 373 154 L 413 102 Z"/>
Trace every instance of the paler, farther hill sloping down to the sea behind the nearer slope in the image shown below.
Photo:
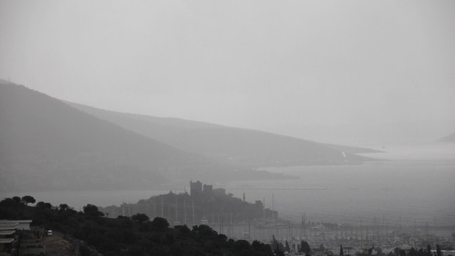
<path fill-rule="evenodd" d="M 368 160 L 354 153 L 375 152 L 251 129 L 177 118 L 117 113 L 77 103 L 68 104 L 151 139 L 241 167 L 354 164 Z"/>

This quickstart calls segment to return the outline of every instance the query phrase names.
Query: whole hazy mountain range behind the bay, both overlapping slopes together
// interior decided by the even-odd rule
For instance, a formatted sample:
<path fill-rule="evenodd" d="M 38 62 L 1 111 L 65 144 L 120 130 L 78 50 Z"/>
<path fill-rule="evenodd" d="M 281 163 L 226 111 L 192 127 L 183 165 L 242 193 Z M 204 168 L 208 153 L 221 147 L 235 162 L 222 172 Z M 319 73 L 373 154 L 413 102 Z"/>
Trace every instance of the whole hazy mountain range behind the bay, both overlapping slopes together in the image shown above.
<path fill-rule="evenodd" d="M 294 177 L 255 169 L 369 160 L 354 155 L 359 148 L 99 110 L 6 81 L 0 82 L 0 120 L 4 191 L 168 189 L 189 179 L 289 179 Z"/>

